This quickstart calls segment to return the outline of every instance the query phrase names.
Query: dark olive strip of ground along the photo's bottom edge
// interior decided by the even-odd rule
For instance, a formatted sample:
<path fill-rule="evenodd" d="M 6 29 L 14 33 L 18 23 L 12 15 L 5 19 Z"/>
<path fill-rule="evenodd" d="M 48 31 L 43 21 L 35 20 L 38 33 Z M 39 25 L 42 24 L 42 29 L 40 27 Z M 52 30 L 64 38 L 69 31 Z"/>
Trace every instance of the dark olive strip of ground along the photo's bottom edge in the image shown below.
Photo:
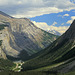
<path fill-rule="evenodd" d="M 0 75 L 75 75 L 75 71 L 61 74 L 61 73 L 49 73 L 48 71 L 46 72 L 41 72 L 41 71 L 35 71 L 35 72 L 10 72 L 10 71 L 4 71 L 0 72 Z"/>

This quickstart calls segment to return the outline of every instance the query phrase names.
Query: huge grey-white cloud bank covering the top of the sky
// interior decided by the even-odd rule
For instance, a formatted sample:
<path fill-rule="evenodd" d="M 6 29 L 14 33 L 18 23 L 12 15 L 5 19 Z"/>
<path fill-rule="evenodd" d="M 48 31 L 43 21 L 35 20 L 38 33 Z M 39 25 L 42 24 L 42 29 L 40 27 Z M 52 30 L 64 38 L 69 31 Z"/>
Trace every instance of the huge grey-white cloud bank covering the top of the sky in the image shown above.
<path fill-rule="evenodd" d="M 35 17 L 75 9 L 70 0 L 0 0 L 0 10 L 15 17 Z"/>

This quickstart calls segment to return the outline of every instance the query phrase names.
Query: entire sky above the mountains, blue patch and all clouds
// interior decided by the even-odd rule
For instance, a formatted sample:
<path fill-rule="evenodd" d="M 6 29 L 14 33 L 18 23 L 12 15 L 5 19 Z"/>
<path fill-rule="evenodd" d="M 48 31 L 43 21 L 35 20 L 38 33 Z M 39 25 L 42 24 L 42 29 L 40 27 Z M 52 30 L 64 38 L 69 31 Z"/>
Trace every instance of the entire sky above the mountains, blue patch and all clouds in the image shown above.
<path fill-rule="evenodd" d="M 0 11 L 63 34 L 75 19 L 75 0 L 0 0 Z"/>

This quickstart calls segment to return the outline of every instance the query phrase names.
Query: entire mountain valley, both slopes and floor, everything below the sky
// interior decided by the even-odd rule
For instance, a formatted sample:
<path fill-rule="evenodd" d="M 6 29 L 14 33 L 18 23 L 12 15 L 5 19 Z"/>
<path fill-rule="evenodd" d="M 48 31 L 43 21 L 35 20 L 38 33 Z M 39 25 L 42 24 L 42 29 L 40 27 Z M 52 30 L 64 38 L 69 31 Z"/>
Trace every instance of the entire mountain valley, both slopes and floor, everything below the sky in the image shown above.
<path fill-rule="evenodd" d="M 75 20 L 57 36 L 0 11 L 0 75 L 75 75 Z"/>

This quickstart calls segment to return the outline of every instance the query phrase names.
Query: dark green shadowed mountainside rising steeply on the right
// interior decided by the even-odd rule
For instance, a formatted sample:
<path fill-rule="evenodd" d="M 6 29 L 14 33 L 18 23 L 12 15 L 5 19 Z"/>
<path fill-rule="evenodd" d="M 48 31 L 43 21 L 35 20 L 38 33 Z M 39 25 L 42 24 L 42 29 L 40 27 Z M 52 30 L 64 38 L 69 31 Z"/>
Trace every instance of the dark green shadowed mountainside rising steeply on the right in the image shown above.
<path fill-rule="evenodd" d="M 75 71 L 75 20 L 70 28 L 35 58 L 26 61 L 22 70 L 66 73 Z M 60 75 L 60 74 L 59 74 Z"/>

